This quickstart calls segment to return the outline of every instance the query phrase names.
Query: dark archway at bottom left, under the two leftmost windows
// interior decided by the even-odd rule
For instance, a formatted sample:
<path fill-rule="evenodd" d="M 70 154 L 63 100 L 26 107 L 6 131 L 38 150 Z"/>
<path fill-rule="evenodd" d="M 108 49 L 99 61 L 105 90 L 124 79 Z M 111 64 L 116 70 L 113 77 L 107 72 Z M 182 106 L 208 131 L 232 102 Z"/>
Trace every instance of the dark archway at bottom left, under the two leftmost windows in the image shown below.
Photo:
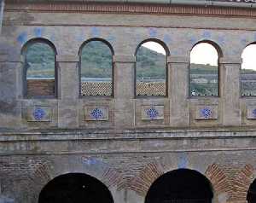
<path fill-rule="evenodd" d="M 55 177 L 39 194 L 38 203 L 113 203 L 108 187 L 95 177 L 69 173 Z"/>

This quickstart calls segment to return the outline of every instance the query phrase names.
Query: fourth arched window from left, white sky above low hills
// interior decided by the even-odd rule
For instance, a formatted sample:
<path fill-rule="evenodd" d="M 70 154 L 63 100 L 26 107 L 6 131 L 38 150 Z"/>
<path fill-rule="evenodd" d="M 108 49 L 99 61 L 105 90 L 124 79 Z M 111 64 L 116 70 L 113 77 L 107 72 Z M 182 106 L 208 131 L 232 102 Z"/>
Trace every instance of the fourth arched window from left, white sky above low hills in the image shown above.
<path fill-rule="evenodd" d="M 218 96 L 218 58 L 212 44 L 194 46 L 190 52 L 189 96 Z"/>

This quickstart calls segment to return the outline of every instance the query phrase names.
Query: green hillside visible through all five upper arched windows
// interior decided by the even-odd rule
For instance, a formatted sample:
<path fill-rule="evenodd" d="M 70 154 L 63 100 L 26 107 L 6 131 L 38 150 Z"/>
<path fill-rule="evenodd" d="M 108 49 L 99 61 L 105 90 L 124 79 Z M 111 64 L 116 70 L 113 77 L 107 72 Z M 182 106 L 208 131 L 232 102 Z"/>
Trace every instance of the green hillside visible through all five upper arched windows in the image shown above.
<path fill-rule="evenodd" d="M 87 44 L 82 51 L 83 78 L 111 78 L 112 57 L 108 46 L 100 42 Z M 43 57 L 41 57 L 43 55 Z M 55 54 L 48 45 L 35 44 L 27 52 L 27 76 L 29 78 L 54 78 Z M 141 81 L 165 78 L 166 56 L 141 47 L 137 52 L 137 78 Z M 256 90 L 256 72 L 242 70 L 242 91 L 245 94 Z M 190 65 L 190 91 L 201 95 L 216 95 L 218 92 L 218 70 L 210 65 Z M 256 92 L 255 92 L 256 94 Z"/>

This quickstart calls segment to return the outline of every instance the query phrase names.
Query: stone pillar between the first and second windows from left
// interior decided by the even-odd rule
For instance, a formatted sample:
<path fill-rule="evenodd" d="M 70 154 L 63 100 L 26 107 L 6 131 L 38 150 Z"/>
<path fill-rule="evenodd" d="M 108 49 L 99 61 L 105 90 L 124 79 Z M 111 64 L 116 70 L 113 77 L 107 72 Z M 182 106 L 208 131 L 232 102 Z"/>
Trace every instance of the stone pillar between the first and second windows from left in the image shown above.
<path fill-rule="evenodd" d="M 79 128 L 79 56 L 57 55 L 58 127 Z"/>

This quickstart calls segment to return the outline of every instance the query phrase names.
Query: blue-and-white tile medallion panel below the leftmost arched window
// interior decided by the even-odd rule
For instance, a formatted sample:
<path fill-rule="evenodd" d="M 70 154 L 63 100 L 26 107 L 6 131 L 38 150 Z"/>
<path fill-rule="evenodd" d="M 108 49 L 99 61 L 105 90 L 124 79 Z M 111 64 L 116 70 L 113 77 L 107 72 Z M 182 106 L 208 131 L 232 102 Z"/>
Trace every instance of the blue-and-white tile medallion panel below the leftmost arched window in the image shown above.
<path fill-rule="evenodd" d="M 51 113 L 51 107 L 28 107 L 26 120 L 29 122 L 50 122 Z"/>

